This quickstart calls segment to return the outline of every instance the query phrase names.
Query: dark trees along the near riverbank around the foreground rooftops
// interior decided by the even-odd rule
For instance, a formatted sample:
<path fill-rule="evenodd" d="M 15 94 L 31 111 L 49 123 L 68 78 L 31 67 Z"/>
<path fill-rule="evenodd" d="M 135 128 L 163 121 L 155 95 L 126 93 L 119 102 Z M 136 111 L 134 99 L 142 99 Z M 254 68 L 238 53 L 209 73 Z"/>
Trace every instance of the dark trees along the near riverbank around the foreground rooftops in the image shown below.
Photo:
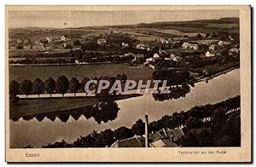
<path fill-rule="evenodd" d="M 149 123 L 149 133 L 163 128 L 176 128 L 183 125 L 184 134 L 177 142 L 183 147 L 239 147 L 241 145 L 240 109 L 227 114 L 231 109 L 240 108 L 240 96 L 230 98 L 214 105 L 193 107 L 187 112 L 173 112 L 159 120 Z M 203 118 L 211 118 L 203 122 Z M 133 135 L 144 135 L 145 124 L 138 119 L 131 128 L 117 130 L 93 130 L 89 135 L 80 136 L 73 143 L 55 142 L 44 147 L 106 147 L 114 141 Z"/>

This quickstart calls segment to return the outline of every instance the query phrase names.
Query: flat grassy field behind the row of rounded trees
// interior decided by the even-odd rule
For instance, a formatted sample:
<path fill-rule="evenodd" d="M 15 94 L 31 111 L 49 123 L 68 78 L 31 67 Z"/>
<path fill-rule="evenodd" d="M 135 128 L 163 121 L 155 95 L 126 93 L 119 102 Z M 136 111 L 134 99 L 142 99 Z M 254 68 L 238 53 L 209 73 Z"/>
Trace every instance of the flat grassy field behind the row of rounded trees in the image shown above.
<path fill-rule="evenodd" d="M 22 82 L 25 79 L 49 77 L 57 79 L 65 75 L 68 79 L 78 78 L 81 81 L 84 77 L 99 78 L 100 76 L 116 76 L 126 74 L 128 79 L 148 80 L 153 70 L 149 67 L 130 67 L 129 64 L 98 64 L 98 65 L 77 65 L 77 66 L 9 66 L 10 81 Z"/>

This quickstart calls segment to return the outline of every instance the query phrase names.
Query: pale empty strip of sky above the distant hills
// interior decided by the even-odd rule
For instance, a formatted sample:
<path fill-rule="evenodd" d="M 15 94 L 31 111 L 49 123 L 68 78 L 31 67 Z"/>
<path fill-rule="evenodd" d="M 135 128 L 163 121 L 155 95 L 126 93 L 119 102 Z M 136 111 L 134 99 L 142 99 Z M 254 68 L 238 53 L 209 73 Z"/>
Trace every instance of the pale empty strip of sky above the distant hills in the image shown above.
<path fill-rule="evenodd" d="M 130 25 L 239 17 L 238 10 L 9 11 L 9 27 L 82 27 Z"/>

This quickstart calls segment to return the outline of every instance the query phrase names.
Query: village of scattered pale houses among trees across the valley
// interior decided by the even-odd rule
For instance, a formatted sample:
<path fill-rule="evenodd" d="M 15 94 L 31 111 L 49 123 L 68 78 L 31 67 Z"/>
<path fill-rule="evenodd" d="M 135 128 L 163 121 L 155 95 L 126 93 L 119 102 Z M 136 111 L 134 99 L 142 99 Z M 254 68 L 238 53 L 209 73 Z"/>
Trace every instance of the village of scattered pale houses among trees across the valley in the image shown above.
<path fill-rule="evenodd" d="M 66 32 L 48 36 L 49 32 L 45 32 L 43 38 L 33 37 L 33 33 L 38 33 L 33 31 L 26 39 L 17 34 L 10 36 L 9 65 L 128 63 L 141 68 L 189 69 L 197 77 L 239 66 L 239 38 L 229 32 L 172 35 L 163 30 L 159 35 L 158 29 L 153 32 L 107 29 L 79 37 L 76 30 L 70 31 L 72 35 Z"/>

